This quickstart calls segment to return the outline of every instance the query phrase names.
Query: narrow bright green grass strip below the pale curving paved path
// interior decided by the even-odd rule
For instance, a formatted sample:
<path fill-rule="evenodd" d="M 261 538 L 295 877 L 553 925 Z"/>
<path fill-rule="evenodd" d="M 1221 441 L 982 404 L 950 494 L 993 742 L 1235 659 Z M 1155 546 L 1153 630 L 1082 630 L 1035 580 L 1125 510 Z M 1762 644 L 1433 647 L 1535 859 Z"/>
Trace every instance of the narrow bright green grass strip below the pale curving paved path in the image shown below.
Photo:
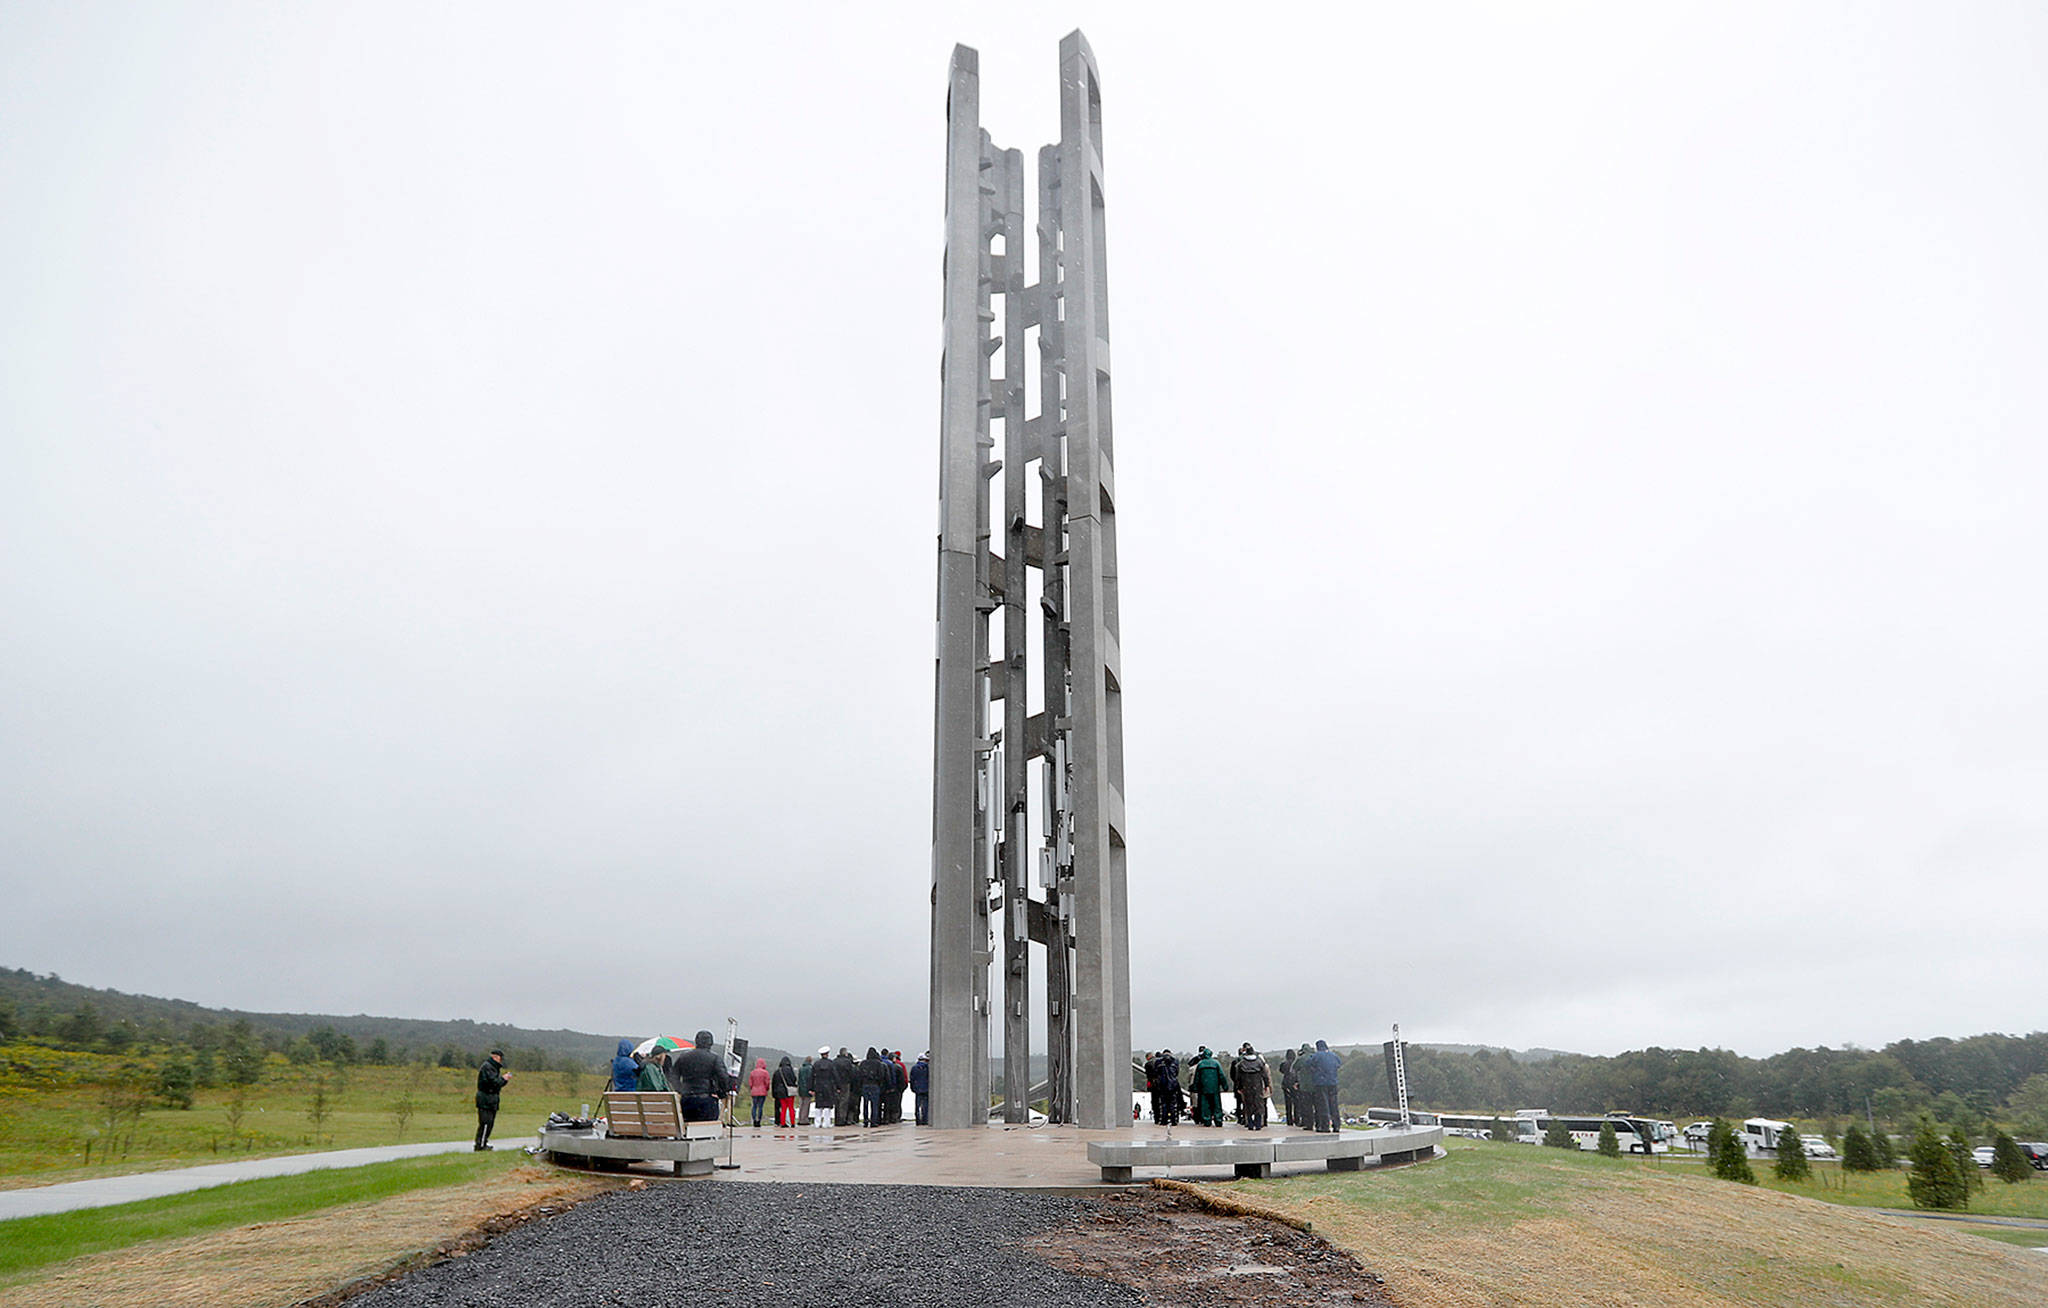
<path fill-rule="evenodd" d="M 0 1222 L 0 1285 L 25 1279 L 49 1263 L 125 1249 L 143 1240 L 174 1240 L 229 1226 L 276 1222 L 340 1204 L 385 1200 L 414 1189 L 459 1185 L 514 1167 L 516 1150 L 434 1154 L 369 1167 L 309 1171 L 297 1177 L 236 1181 L 184 1195 L 86 1208 Z"/>

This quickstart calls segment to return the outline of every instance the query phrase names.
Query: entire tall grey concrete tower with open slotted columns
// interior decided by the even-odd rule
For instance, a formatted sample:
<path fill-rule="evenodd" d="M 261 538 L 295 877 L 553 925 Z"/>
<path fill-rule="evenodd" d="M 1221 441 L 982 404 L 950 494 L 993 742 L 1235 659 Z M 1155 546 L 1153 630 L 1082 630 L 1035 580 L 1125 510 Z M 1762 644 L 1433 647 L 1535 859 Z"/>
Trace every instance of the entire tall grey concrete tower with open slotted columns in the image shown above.
<path fill-rule="evenodd" d="M 932 753 L 934 1126 L 987 1118 L 997 1009 L 1006 1120 L 1022 1122 L 1036 1097 L 1049 1099 L 1055 1122 L 1130 1120 L 1102 88 L 1081 33 L 1059 43 L 1059 84 L 1061 139 L 1038 151 L 1032 231 L 1024 158 L 981 129 L 979 59 L 965 45 L 952 51 Z M 1032 237 L 1038 280 L 1026 285 Z M 1036 397 L 1026 393 L 1032 356 Z M 1038 712 L 1028 708 L 1034 590 Z M 1040 823 L 1028 849 L 1034 766 Z M 1042 1087 L 1030 1081 L 1034 944 L 1044 948 Z M 1001 991 L 991 997 L 997 962 Z"/>

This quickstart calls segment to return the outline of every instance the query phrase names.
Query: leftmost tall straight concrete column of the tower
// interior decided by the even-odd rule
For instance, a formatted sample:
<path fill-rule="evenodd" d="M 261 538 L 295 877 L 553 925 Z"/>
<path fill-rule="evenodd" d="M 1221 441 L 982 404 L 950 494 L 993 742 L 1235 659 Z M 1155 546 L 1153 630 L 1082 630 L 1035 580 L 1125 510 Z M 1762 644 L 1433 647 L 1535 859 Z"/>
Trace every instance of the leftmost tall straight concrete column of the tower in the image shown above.
<path fill-rule="evenodd" d="M 983 332 L 981 76 L 979 57 L 952 51 L 946 94 L 946 270 L 944 354 L 940 360 L 938 479 L 938 669 L 932 745 L 932 1124 L 979 1126 L 975 1101 L 987 1013 L 977 1011 L 975 954 L 981 923 L 981 868 L 975 864 L 975 784 L 983 712 L 981 602 L 987 544 L 977 502 L 987 502 L 981 397 Z M 983 968 L 985 970 L 985 968 Z M 977 1036 L 977 1030 L 983 1032 Z"/>

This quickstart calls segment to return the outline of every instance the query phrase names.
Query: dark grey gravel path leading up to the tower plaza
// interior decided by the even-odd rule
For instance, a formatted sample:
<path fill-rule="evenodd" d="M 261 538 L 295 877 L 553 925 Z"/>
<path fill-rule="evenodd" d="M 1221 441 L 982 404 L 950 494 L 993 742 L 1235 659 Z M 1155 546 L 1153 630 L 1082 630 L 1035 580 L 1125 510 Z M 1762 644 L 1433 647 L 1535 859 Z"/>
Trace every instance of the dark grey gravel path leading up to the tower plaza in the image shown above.
<path fill-rule="evenodd" d="M 1018 1249 L 1090 1218 L 1096 1204 L 926 1185 L 649 1185 L 522 1226 L 348 1308 L 1128 1308 L 1139 1298 L 1124 1285 Z"/>

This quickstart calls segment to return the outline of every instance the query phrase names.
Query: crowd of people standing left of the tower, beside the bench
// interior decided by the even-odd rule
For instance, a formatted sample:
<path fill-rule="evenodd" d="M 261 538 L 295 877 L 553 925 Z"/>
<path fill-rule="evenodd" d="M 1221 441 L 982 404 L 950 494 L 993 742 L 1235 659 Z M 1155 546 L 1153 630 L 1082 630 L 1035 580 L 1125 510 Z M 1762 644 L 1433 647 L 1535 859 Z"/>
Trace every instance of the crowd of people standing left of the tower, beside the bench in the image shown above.
<path fill-rule="evenodd" d="M 770 1101 L 778 1128 L 795 1128 L 801 1120 L 817 1130 L 895 1126 L 903 1122 L 905 1091 L 913 1101 L 915 1124 L 928 1126 L 932 1120 L 930 1054 L 905 1062 L 903 1050 L 868 1046 L 866 1058 L 854 1058 L 844 1046 L 834 1056 L 831 1046 L 823 1044 L 803 1064 L 793 1064 L 788 1054 L 774 1069 L 766 1058 L 756 1058 L 741 1081 L 754 1101 L 754 1126 L 762 1124 Z M 631 1040 L 621 1040 L 610 1089 L 676 1091 L 684 1122 L 715 1122 L 719 1105 L 739 1087 L 725 1073 L 725 1056 L 711 1046 L 711 1032 L 698 1032 L 692 1048 L 678 1050 L 639 1052 Z"/>

